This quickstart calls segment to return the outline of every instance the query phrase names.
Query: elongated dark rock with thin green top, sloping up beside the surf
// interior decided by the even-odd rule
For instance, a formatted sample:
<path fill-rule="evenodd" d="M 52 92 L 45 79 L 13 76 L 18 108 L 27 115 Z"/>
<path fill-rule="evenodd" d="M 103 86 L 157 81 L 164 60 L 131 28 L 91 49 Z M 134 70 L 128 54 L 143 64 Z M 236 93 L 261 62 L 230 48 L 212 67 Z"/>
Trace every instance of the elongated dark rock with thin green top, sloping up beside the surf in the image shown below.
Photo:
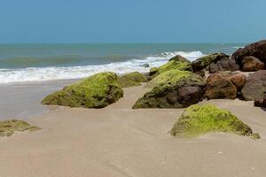
<path fill-rule="evenodd" d="M 203 58 L 198 58 L 192 62 L 193 72 L 200 72 L 201 70 L 206 69 L 213 62 L 216 63 L 222 58 L 229 58 L 229 56 L 224 53 L 214 53 Z"/>

